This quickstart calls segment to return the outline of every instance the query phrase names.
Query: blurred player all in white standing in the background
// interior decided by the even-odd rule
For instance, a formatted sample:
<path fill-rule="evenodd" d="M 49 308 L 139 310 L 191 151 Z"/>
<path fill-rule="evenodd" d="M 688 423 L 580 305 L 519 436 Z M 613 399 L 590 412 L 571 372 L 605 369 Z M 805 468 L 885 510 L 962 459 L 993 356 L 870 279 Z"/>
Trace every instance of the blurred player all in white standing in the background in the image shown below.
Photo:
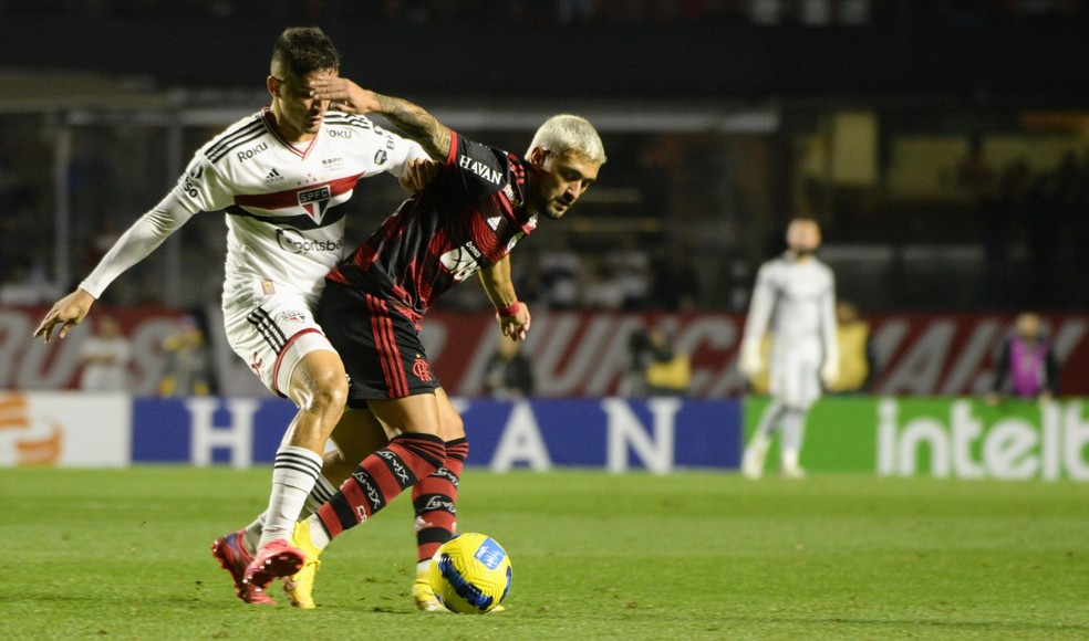
<path fill-rule="evenodd" d="M 765 333 L 770 333 L 771 403 L 741 459 L 741 472 L 749 479 L 763 474 L 771 433 L 780 427 L 780 473 L 788 479 L 803 475 L 798 460 L 806 414 L 820 398 L 821 382 L 829 386 L 838 376 L 836 279 L 815 255 L 820 241 L 817 221 L 790 221 L 787 251 L 764 263 L 756 276 L 738 366 L 749 379 L 764 372 L 760 347 Z"/>

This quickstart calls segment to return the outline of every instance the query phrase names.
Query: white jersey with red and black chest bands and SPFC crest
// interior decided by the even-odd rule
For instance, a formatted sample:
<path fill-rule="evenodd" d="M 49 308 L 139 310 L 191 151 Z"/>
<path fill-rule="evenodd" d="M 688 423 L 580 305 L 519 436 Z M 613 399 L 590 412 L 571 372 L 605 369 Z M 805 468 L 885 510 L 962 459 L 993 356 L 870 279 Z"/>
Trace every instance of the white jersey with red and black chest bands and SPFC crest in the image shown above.
<path fill-rule="evenodd" d="M 325 114 L 307 143 L 281 138 L 268 108 L 205 145 L 175 187 L 190 211 L 227 213 L 225 303 L 245 292 L 290 292 L 314 306 L 344 254 L 344 211 L 356 182 L 404 175 L 426 154 L 362 116 Z"/>

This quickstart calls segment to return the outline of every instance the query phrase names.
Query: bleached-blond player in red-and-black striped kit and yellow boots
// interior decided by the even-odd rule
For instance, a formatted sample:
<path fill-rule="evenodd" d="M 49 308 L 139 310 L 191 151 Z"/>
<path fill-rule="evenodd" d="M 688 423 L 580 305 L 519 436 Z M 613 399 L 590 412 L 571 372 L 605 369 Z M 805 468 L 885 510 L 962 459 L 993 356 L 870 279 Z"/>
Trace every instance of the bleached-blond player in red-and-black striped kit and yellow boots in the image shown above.
<path fill-rule="evenodd" d="M 289 582 L 308 586 L 318 555 L 332 538 L 408 487 L 419 537 L 417 571 L 453 536 L 468 442 L 427 362 L 421 320 L 439 295 L 476 274 L 502 334 L 525 338 L 530 314 L 511 283 L 510 251 L 541 217 L 562 218 L 605 162 L 601 138 L 578 116 L 549 118 L 523 159 L 459 136 L 407 101 L 345 78 L 319 80 L 313 86 L 315 97 L 330 101 L 332 108 L 384 115 L 442 168 L 326 279 L 318 320 L 351 378 L 348 413 L 362 410 L 397 435 L 297 525 L 293 543 L 307 553 L 308 564 Z M 418 575 L 413 592 L 417 606 L 437 606 Z"/>

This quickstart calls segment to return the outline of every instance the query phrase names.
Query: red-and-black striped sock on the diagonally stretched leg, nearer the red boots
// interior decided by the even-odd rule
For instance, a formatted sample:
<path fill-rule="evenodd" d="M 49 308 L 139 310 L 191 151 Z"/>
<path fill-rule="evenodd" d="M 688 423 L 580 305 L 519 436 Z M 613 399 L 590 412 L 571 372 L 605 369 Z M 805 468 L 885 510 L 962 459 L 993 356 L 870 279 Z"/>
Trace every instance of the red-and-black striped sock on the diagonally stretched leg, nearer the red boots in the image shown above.
<path fill-rule="evenodd" d="M 318 518 L 329 538 L 363 523 L 418 479 L 431 475 L 446 458 L 446 444 L 433 434 L 401 434 L 371 454 L 324 505 Z"/>

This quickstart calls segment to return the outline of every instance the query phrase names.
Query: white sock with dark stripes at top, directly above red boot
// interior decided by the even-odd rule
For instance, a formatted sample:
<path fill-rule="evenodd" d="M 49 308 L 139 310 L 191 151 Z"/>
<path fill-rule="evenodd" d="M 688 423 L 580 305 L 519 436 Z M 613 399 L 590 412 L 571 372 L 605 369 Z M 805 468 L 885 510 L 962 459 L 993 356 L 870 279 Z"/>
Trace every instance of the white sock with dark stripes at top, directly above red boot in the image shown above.
<path fill-rule="evenodd" d="M 272 467 L 272 495 L 265 511 L 261 545 L 278 538 L 291 540 L 291 530 L 321 474 L 321 456 L 305 448 L 288 445 L 276 453 Z"/>

